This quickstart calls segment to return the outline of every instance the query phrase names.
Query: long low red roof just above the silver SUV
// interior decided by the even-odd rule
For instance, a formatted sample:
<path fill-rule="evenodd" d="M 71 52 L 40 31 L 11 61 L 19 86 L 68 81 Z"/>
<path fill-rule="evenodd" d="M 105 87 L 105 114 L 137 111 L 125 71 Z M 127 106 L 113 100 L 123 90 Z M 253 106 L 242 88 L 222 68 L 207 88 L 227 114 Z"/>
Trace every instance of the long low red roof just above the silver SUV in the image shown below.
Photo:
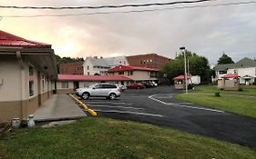
<path fill-rule="evenodd" d="M 58 75 L 59 81 L 133 81 L 121 75 Z"/>

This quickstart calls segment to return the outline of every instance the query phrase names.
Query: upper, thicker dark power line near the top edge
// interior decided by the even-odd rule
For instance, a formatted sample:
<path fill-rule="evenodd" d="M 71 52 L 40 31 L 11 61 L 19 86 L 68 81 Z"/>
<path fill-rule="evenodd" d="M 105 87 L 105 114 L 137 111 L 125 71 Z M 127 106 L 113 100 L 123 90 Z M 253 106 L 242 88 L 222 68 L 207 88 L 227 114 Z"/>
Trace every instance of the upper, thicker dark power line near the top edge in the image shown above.
<path fill-rule="evenodd" d="M 100 9 L 100 8 L 124 8 L 124 7 L 142 7 L 142 6 L 163 6 L 163 5 L 178 5 L 178 4 L 195 4 L 200 2 L 209 2 L 214 0 L 194 0 L 194 1 L 176 1 L 168 3 L 151 3 L 151 4 L 128 4 L 128 5 L 98 5 L 98 6 L 15 6 L 15 5 L 0 5 L 0 8 L 13 9 Z"/>

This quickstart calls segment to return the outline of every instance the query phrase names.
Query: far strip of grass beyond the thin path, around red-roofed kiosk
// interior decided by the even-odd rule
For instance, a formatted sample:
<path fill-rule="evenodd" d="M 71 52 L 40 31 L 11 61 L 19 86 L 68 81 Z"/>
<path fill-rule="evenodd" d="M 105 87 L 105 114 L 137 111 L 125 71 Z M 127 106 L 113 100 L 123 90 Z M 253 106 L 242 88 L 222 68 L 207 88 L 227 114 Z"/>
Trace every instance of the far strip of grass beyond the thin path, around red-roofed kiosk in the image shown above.
<path fill-rule="evenodd" d="M 190 93 L 216 93 L 220 94 L 241 94 L 256 96 L 256 85 L 241 85 L 243 91 L 224 91 L 217 88 L 217 85 L 199 85 L 195 86 L 194 90 L 189 90 Z"/>

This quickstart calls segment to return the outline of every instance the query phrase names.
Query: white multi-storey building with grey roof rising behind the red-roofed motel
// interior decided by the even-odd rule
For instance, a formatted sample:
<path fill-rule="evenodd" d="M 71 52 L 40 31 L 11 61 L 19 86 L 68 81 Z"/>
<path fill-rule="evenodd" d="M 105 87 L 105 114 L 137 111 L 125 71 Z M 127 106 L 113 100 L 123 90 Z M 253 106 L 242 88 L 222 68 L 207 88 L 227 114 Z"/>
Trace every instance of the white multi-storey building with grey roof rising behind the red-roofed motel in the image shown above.
<path fill-rule="evenodd" d="M 87 57 L 83 65 L 84 75 L 108 75 L 108 69 L 117 65 L 128 65 L 126 56 L 108 58 Z"/>

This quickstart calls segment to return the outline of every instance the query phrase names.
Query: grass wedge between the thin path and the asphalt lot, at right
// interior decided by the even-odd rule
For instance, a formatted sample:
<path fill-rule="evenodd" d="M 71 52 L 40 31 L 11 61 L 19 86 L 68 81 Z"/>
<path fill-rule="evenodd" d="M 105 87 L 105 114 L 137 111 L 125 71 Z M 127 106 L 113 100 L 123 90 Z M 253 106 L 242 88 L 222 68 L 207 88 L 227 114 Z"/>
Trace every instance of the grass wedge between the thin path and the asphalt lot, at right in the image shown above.
<path fill-rule="evenodd" d="M 176 94 L 175 97 L 186 102 L 256 118 L 256 97 L 230 96 L 221 93 L 220 97 L 214 94 Z"/>

